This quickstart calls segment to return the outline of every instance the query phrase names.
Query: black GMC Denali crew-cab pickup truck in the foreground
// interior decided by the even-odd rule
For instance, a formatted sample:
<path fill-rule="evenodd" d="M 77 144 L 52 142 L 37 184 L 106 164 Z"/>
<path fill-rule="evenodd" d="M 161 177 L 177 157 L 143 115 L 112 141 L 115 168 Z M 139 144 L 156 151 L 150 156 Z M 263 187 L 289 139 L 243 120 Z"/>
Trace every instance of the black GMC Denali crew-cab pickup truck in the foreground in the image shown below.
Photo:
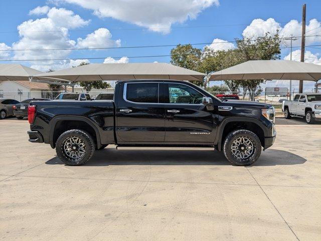
<path fill-rule="evenodd" d="M 221 101 L 186 81 L 119 81 L 114 100 L 32 101 L 29 141 L 67 165 L 118 146 L 214 147 L 234 165 L 254 163 L 275 140 L 273 106 Z"/>

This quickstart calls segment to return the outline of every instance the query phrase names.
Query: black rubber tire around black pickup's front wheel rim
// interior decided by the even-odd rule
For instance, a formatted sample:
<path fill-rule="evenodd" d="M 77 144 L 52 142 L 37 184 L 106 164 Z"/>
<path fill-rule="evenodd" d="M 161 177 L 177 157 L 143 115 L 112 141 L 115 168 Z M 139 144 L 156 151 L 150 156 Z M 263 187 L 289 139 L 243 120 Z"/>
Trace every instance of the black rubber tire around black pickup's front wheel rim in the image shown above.
<path fill-rule="evenodd" d="M 247 138 L 253 146 L 253 153 L 248 158 L 237 158 L 232 152 L 232 144 L 238 138 Z M 226 159 L 236 166 L 248 166 L 256 162 L 261 155 L 261 142 L 260 139 L 251 131 L 236 130 L 229 133 L 224 141 L 223 152 Z"/>

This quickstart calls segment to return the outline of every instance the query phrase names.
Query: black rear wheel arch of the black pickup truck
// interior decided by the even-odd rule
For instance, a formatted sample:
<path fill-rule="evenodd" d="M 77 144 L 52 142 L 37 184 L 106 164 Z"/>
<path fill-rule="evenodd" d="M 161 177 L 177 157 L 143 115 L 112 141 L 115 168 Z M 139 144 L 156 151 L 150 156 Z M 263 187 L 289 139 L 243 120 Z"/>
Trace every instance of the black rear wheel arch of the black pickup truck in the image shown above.
<path fill-rule="evenodd" d="M 65 131 L 79 129 L 88 132 L 94 138 L 95 144 L 101 146 L 100 133 L 96 125 L 85 116 L 57 116 L 50 122 L 49 143 L 55 148 L 58 137 Z"/>

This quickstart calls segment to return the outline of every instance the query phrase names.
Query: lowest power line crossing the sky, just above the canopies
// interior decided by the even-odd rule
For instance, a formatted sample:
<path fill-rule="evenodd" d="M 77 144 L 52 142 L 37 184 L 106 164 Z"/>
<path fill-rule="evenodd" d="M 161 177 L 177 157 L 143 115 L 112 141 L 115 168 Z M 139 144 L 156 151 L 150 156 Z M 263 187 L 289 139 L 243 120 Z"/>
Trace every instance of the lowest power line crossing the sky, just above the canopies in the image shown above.
<path fill-rule="evenodd" d="M 321 45 L 310 45 L 310 46 L 314 47 L 314 46 L 321 46 Z M 309 46 L 306 46 L 306 47 L 309 47 Z M 290 48 L 290 47 L 281 47 L 281 48 L 285 49 L 285 48 Z M 267 49 L 267 48 L 265 48 L 265 49 Z M 264 48 L 262 48 L 260 50 L 264 50 Z M 231 51 L 233 51 L 233 52 L 241 52 L 242 50 L 235 49 L 235 50 L 231 50 Z M 218 51 L 215 51 L 215 52 L 218 52 Z M 129 58 L 129 59 L 130 58 L 154 58 L 154 57 L 172 57 L 172 56 L 182 56 L 182 55 L 192 55 L 192 54 L 130 56 L 130 57 L 127 57 L 127 58 Z M 122 57 L 124 57 L 124 56 L 122 56 Z M 58 61 L 58 60 L 106 59 L 106 58 L 120 59 L 122 57 L 94 57 L 94 58 L 82 57 L 82 58 L 64 58 L 64 59 L 9 59 L 9 60 L 0 60 L 0 62 L 5 62 L 5 61 Z"/>

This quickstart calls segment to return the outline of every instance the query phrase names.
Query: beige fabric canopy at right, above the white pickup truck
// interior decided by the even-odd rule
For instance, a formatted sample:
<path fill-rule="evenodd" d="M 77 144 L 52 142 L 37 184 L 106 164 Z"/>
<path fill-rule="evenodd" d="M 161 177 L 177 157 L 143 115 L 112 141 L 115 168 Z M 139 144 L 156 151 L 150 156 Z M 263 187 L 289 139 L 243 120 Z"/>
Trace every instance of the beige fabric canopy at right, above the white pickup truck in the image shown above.
<path fill-rule="evenodd" d="M 290 60 L 252 60 L 223 69 L 211 75 L 210 80 L 232 79 L 321 79 L 321 66 Z"/>

